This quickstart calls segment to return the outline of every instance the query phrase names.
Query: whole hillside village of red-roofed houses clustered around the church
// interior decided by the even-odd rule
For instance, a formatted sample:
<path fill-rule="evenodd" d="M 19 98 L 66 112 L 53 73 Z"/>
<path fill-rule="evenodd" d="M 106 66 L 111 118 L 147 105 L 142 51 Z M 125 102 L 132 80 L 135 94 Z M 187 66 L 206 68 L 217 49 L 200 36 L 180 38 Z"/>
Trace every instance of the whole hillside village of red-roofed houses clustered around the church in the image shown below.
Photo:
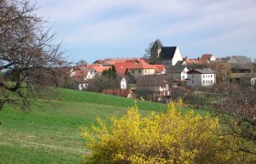
<path fill-rule="evenodd" d="M 247 56 L 204 54 L 190 59 L 181 55 L 178 46 L 163 46 L 159 39 L 148 58 L 98 59 L 74 66 L 69 73 L 79 90 L 156 102 L 168 102 L 177 87 L 187 92 L 220 82 L 256 83 L 255 63 Z"/>

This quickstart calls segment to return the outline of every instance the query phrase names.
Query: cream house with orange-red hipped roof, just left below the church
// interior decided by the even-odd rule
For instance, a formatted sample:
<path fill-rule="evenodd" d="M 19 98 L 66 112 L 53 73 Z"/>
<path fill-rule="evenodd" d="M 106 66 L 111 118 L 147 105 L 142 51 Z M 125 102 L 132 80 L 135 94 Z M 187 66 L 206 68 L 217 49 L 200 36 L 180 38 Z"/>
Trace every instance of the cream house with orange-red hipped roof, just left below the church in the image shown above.
<path fill-rule="evenodd" d="M 132 67 L 129 67 L 128 73 L 137 80 L 145 75 L 154 75 L 155 67 L 141 61 L 135 63 Z"/>

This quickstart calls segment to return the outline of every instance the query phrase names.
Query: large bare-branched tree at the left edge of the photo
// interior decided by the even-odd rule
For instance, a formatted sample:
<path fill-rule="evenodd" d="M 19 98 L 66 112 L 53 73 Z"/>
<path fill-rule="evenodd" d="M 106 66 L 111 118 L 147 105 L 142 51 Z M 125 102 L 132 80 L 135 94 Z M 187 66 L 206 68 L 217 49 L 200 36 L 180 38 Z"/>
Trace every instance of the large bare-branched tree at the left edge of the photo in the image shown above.
<path fill-rule="evenodd" d="M 5 103 L 28 108 L 28 97 L 52 97 L 49 90 L 63 75 L 58 68 L 67 64 L 34 11 L 28 0 L 0 1 L 0 109 Z"/>

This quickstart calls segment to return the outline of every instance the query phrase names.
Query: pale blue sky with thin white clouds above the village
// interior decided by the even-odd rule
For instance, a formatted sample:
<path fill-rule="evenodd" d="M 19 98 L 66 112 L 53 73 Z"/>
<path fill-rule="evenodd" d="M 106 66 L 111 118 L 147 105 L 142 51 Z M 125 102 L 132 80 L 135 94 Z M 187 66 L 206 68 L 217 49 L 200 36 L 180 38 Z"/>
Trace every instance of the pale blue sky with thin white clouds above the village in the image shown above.
<path fill-rule="evenodd" d="M 183 57 L 256 58 L 255 0 L 31 0 L 69 60 L 142 57 L 155 39 Z"/>

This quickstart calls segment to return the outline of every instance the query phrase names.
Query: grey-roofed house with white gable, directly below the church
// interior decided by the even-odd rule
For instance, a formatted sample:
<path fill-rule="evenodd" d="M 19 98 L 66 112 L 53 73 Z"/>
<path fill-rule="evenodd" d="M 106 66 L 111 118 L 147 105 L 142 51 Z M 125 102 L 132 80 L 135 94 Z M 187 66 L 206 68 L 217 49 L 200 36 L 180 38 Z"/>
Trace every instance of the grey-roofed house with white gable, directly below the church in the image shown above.
<path fill-rule="evenodd" d="M 187 66 L 169 66 L 167 76 L 176 81 L 185 81 L 187 79 L 188 71 L 189 69 Z"/>

